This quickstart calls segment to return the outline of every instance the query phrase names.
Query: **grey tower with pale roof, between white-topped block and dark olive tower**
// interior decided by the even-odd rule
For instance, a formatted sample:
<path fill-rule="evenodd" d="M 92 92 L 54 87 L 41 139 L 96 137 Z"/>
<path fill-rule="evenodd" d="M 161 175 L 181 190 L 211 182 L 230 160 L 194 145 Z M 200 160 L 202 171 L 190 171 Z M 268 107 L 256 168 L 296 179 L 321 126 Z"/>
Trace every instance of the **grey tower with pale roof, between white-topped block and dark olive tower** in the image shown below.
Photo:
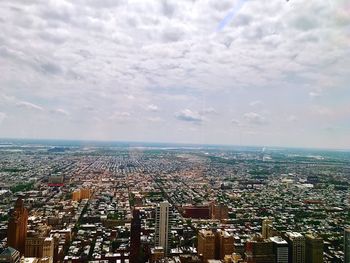
<path fill-rule="evenodd" d="M 305 238 L 297 232 L 287 232 L 286 238 L 289 247 L 289 262 L 305 263 Z"/>

